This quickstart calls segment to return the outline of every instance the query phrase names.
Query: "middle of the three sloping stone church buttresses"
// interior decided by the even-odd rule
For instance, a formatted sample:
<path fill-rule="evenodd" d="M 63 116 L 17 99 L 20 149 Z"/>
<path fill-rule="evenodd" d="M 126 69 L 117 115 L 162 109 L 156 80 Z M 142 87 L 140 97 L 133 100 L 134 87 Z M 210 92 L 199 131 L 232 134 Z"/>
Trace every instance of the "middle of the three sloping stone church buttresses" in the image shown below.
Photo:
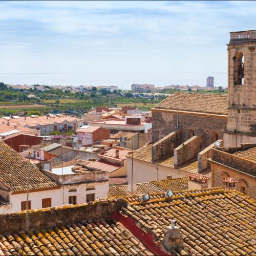
<path fill-rule="evenodd" d="M 178 166 L 187 160 L 195 157 L 203 150 L 205 134 L 193 136 L 174 150 L 174 166 Z"/>

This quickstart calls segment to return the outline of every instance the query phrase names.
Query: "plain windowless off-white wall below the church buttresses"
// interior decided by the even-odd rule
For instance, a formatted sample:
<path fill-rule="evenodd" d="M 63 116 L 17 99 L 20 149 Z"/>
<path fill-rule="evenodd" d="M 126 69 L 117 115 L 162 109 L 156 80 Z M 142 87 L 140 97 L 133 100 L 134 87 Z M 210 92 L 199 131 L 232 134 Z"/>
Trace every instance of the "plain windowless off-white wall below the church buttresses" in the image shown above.
<path fill-rule="evenodd" d="M 173 169 L 159 165 L 158 179 L 163 180 L 167 175 L 172 175 L 173 178 L 186 177 L 188 173 L 182 170 Z M 138 159 L 133 159 L 133 183 L 142 183 L 157 180 L 157 165 L 148 163 Z M 127 157 L 127 182 L 132 182 L 132 158 Z"/>

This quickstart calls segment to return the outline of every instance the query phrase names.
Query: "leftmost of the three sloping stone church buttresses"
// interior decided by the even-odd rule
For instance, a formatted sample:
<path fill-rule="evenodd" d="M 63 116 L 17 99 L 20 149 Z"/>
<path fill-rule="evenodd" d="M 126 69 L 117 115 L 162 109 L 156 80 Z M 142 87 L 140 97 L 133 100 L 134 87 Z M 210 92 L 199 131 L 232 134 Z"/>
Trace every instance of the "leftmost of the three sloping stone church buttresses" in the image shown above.
<path fill-rule="evenodd" d="M 174 148 L 182 143 L 181 130 L 172 132 L 152 145 L 152 163 L 173 156 Z"/>

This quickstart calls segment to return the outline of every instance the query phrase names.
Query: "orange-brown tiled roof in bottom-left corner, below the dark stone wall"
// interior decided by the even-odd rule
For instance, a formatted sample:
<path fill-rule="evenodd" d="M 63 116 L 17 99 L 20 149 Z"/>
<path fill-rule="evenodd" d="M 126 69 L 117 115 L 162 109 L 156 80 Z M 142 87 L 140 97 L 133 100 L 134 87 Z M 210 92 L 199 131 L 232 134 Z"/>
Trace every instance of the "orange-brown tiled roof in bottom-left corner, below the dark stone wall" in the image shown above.
<path fill-rule="evenodd" d="M 117 221 L 0 235 L 0 255 L 153 255 Z"/>

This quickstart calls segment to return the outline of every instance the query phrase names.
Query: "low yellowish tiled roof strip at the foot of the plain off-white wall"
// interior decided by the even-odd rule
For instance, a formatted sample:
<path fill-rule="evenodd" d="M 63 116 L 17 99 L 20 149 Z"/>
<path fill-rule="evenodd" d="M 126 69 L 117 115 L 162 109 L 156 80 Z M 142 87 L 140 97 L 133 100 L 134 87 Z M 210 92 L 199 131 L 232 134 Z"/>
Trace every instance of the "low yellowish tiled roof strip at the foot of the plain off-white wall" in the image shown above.
<path fill-rule="evenodd" d="M 137 185 L 137 190 L 134 195 L 143 195 L 146 193 L 161 193 L 167 192 L 170 189 L 174 191 L 186 190 L 188 189 L 188 178 L 177 178 L 177 179 L 166 179 L 159 181 L 151 181 L 145 183 L 139 183 Z M 122 186 L 112 186 L 109 188 L 109 197 L 123 197 L 131 196 L 131 192 L 128 190 L 127 185 Z"/>

